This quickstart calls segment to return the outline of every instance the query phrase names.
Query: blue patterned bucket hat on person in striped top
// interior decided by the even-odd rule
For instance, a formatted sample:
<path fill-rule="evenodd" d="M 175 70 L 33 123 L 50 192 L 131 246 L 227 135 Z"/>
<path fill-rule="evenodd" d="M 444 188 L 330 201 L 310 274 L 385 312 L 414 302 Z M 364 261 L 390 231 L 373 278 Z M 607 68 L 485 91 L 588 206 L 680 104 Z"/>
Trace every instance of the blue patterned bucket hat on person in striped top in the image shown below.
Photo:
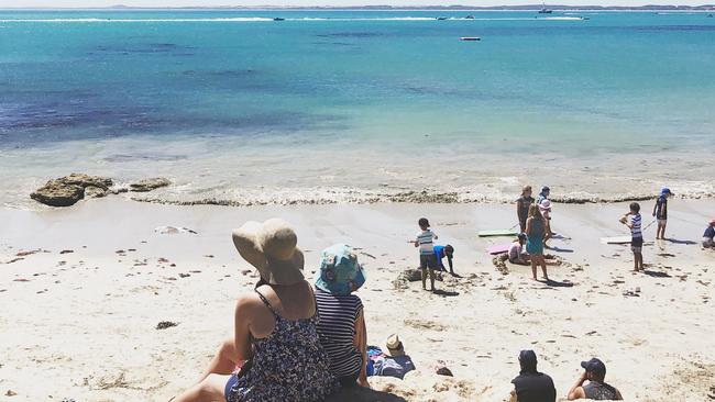
<path fill-rule="evenodd" d="M 316 288 L 337 295 L 348 295 L 365 283 L 365 270 L 352 247 L 336 244 L 320 253 Z"/>

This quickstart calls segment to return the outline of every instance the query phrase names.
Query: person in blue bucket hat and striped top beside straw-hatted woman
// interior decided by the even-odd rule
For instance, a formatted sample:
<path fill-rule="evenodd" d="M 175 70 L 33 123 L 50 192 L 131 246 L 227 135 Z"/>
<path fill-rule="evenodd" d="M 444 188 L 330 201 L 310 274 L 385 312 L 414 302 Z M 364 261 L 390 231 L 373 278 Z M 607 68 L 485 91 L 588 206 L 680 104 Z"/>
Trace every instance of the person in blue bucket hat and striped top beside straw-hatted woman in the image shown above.
<path fill-rule="evenodd" d="M 352 247 L 332 245 L 320 253 L 316 272 L 318 335 L 328 353 L 331 373 L 342 387 L 370 387 L 366 376 L 367 331 L 360 298 L 365 271 Z"/>

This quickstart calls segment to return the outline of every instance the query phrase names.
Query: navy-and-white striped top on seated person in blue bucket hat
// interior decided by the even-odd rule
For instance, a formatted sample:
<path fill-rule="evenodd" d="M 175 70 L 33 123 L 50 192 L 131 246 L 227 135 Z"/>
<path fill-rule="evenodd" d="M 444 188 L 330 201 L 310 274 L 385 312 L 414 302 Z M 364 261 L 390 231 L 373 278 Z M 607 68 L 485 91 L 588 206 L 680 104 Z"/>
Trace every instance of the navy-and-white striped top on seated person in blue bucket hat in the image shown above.
<path fill-rule="evenodd" d="M 362 301 L 354 294 L 336 295 L 317 289 L 316 304 L 320 314 L 318 336 L 328 354 L 331 373 L 338 378 L 360 373 L 363 359 L 354 338 Z"/>

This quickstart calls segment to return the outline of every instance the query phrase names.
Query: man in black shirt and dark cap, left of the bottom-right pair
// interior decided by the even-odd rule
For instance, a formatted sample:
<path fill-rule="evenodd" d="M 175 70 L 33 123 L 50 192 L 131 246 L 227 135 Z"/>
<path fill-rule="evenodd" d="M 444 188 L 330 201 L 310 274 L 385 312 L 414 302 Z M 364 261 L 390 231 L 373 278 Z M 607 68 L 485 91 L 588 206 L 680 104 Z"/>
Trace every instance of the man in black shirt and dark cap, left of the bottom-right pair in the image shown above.
<path fill-rule="evenodd" d="M 534 350 L 521 350 L 519 353 L 519 366 L 521 371 L 512 380 L 513 402 L 554 402 L 557 389 L 553 387 L 551 377 L 537 371 L 537 357 Z"/>

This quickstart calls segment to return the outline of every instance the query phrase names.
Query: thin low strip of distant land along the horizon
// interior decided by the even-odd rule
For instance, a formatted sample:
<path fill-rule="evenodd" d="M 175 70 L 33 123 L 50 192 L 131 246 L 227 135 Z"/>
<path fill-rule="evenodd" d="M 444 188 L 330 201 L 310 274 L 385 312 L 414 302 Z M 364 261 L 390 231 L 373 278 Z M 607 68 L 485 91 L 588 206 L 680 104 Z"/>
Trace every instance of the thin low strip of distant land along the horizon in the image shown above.
<path fill-rule="evenodd" d="M 702 5 L 562 5 L 562 4 L 546 4 L 547 8 L 553 11 L 715 11 L 715 4 Z M 420 7 L 392 7 L 392 5 L 354 5 L 354 7 L 285 7 L 285 5 L 261 5 L 261 7 L 245 7 L 245 5 L 211 5 L 211 7 L 129 7 L 129 5 L 111 5 L 111 7 L 82 7 L 82 8 L 32 8 L 32 7 L 18 7 L 18 8 L 0 8 L 0 11 L 18 11 L 18 10 L 47 10 L 47 11 L 120 11 L 120 10 L 233 10 L 233 11 L 537 11 L 543 8 L 542 4 L 525 4 L 525 5 L 420 5 Z"/>

